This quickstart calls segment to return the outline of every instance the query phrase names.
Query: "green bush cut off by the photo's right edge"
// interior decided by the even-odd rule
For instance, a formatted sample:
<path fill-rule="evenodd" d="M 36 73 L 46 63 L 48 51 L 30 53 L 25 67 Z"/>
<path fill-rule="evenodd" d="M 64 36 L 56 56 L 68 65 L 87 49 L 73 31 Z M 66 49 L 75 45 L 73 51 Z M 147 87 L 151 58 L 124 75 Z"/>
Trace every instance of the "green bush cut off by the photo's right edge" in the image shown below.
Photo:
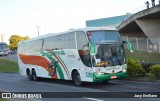
<path fill-rule="evenodd" d="M 157 79 L 160 79 L 160 65 L 153 65 L 150 67 L 150 73 L 154 74 Z"/>

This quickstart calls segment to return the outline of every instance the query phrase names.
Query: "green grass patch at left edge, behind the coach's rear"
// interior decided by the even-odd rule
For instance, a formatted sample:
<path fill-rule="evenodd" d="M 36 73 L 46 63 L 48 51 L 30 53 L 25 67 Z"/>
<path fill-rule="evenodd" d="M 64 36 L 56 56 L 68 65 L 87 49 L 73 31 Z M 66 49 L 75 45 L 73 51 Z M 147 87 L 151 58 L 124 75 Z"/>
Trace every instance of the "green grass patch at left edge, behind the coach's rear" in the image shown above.
<path fill-rule="evenodd" d="M 18 63 L 12 60 L 0 58 L 0 72 L 18 73 Z"/>

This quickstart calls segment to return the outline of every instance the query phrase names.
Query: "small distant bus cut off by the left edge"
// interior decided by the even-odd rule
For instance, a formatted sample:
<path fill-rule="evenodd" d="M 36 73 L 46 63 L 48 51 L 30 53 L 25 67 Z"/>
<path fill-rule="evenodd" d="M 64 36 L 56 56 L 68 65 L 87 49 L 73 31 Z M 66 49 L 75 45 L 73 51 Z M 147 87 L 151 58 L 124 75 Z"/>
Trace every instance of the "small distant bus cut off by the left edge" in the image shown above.
<path fill-rule="evenodd" d="M 7 56 L 9 52 L 8 45 L 4 42 L 0 42 L 0 55 Z"/>

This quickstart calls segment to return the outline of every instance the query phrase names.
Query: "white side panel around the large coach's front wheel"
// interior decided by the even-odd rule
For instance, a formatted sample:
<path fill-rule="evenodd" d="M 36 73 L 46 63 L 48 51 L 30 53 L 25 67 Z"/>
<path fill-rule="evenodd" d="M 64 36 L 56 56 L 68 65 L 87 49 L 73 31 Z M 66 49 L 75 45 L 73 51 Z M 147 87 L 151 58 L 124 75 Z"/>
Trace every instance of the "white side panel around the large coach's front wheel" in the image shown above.
<path fill-rule="evenodd" d="M 69 70 L 70 76 L 72 76 L 72 71 L 77 70 L 81 76 L 81 80 L 85 82 L 93 82 L 93 71 L 91 67 L 87 67 L 82 63 L 79 57 L 79 53 L 76 49 L 66 49 L 65 52 L 65 62 Z M 72 78 L 71 78 L 72 79 Z"/>

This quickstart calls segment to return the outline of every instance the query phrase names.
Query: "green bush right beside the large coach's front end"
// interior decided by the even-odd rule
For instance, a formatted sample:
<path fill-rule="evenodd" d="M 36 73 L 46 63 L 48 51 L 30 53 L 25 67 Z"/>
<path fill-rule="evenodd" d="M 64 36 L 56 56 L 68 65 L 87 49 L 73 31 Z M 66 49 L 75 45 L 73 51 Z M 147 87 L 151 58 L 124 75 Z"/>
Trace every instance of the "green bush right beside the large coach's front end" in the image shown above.
<path fill-rule="evenodd" d="M 142 65 L 138 61 L 128 58 L 127 73 L 129 76 L 144 75 L 145 70 L 143 69 Z"/>

